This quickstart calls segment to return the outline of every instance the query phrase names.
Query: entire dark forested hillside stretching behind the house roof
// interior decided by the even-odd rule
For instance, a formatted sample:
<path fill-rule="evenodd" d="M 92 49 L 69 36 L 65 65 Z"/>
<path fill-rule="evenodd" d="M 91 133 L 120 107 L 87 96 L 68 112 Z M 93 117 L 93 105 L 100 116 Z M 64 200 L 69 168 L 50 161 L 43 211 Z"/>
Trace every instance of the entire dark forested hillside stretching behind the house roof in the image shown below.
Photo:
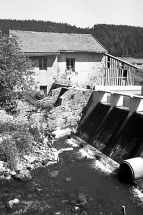
<path fill-rule="evenodd" d="M 90 33 L 114 56 L 143 57 L 143 28 L 125 25 L 94 25 L 93 28 L 78 28 L 65 23 L 36 20 L 0 19 L 2 34 L 11 30 L 45 31 L 62 33 Z"/>

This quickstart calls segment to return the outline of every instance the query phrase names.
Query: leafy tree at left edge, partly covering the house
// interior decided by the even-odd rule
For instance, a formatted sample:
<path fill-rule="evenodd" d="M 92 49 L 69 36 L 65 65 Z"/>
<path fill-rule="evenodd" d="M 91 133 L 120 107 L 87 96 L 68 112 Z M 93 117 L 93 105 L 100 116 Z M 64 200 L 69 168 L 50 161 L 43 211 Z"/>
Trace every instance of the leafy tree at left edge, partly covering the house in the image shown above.
<path fill-rule="evenodd" d="M 0 106 L 10 110 L 14 94 L 23 92 L 34 84 L 32 62 L 21 51 L 16 36 L 0 37 Z"/>

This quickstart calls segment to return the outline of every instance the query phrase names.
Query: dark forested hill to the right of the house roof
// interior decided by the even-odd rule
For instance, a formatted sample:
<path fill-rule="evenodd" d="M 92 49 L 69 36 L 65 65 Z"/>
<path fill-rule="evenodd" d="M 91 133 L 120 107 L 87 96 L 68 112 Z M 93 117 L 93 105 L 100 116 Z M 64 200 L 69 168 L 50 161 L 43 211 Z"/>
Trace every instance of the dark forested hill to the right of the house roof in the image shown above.
<path fill-rule="evenodd" d="M 126 25 L 95 25 L 90 32 L 108 49 L 120 57 L 143 57 L 143 28 Z"/>

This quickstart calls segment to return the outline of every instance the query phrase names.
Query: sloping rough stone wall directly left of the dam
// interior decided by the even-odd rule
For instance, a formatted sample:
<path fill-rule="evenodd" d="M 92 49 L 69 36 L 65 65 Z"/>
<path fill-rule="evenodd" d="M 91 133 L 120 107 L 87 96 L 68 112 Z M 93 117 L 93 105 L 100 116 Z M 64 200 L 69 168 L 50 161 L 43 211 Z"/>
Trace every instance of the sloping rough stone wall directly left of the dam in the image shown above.
<path fill-rule="evenodd" d="M 50 131 L 71 128 L 75 130 L 92 91 L 70 88 L 60 98 L 61 105 L 47 113 L 47 127 Z"/>

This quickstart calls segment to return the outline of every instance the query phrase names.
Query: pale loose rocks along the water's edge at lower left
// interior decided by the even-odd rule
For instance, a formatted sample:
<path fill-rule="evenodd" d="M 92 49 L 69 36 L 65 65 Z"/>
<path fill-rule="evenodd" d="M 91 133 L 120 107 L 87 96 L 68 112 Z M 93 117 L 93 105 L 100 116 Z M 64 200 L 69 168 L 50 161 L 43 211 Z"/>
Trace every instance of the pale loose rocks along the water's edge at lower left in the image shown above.
<path fill-rule="evenodd" d="M 11 178 L 21 181 L 30 180 L 32 178 L 31 170 L 57 162 L 59 160 L 58 155 L 57 149 L 39 144 L 34 147 L 33 154 L 19 158 L 15 170 L 11 170 L 7 162 L 0 161 L 0 180 Z"/>

